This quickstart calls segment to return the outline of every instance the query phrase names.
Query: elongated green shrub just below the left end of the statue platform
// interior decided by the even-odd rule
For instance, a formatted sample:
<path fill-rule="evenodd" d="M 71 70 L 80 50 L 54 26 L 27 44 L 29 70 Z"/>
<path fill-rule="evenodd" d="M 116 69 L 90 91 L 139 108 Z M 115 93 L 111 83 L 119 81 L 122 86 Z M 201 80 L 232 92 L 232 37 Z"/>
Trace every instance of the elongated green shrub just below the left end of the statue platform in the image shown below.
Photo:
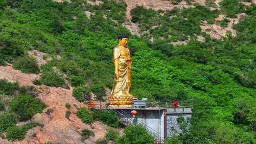
<path fill-rule="evenodd" d="M 117 115 L 113 111 L 108 111 L 108 110 L 93 111 L 93 117 L 95 121 L 101 121 L 104 124 L 114 128 L 118 128 L 122 126 L 121 122 L 119 122 Z"/>

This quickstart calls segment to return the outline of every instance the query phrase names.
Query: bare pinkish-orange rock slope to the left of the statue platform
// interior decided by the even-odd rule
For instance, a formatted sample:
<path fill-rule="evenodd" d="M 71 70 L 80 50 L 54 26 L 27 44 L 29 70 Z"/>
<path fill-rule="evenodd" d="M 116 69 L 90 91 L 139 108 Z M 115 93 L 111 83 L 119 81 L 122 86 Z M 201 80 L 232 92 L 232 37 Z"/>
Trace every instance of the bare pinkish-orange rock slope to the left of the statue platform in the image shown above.
<path fill-rule="evenodd" d="M 27 74 L 14 70 L 11 65 L 0 66 L 0 79 L 8 81 L 17 81 L 21 86 L 33 85 L 32 81 L 40 76 L 36 74 Z M 54 142 L 60 144 L 94 144 L 99 138 L 106 135 L 109 126 L 101 122 L 95 122 L 91 125 L 85 125 L 81 119 L 76 117 L 76 111 L 80 107 L 87 107 L 72 96 L 72 90 L 64 88 L 48 87 L 45 85 L 35 86 L 39 92 L 37 98 L 41 99 L 48 106 L 43 113 L 37 114 L 32 121 L 44 124 L 43 127 L 34 127 L 27 132 L 26 138 L 22 141 L 11 142 L 0 138 L 0 144 L 45 144 Z M 71 104 L 69 111 L 71 115 L 66 118 L 68 109 L 65 104 Z M 47 109 L 52 109 L 52 113 L 46 113 Z M 91 129 L 95 136 L 86 141 L 81 141 L 81 131 L 84 128 Z"/>

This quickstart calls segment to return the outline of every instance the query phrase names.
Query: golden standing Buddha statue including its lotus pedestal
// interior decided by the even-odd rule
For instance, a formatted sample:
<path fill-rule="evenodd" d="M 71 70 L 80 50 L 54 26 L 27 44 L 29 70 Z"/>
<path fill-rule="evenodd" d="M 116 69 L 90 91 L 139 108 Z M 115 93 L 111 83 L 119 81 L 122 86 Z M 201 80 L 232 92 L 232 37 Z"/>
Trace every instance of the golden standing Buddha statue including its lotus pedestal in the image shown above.
<path fill-rule="evenodd" d="M 114 86 L 108 97 L 110 107 L 129 107 L 133 96 L 129 94 L 131 87 L 131 57 L 127 44 L 129 36 L 118 36 L 119 44 L 113 49 L 115 66 Z"/>

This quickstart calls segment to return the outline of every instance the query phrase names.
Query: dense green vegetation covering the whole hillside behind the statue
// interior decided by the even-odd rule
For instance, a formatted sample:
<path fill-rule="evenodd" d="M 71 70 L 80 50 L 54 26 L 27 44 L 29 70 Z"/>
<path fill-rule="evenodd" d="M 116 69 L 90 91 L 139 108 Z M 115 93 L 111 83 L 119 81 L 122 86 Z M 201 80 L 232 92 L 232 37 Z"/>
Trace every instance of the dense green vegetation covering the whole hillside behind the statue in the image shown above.
<path fill-rule="evenodd" d="M 222 0 L 220 11 L 197 5 L 168 10 L 164 16 L 161 10 L 137 7 L 131 11 L 132 21 L 139 23 L 142 32 L 148 30 L 139 38 L 120 24 L 126 21 L 122 0 L 102 0 L 99 6 L 83 0 L 12 1 L 0 0 L 4 4 L 0 4 L 0 63 L 15 63 L 31 49 L 58 54 L 61 58 L 53 57 L 42 67 L 43 77 L 37 82 L 62 86 L 64 73 L 77 86 L 73 93 L 77 99 L 81 101 L 81 91 L 94 91 L 101 99 L 103 87 L 111 89 L 113 84 L 111 55 L 117 45 L 116 36 L 127 33 L 133 58 L 131 94 L 150 100 L 193 99 L 189 130 L 170 143 L 256 143 L 256 5 L 247 7 L 239 0 Z M 84 11 L 94 15 L 88 18 Z M 241 12 L 247 17 L 234 26 L 237 37 L 228 34 L 218 41 L 201 32 L 201 21 L 212 24 L 219 14 L 234 18 Z M 205 42 L 197 41 L 198 35 L 204 36 Z M 151 37 L 154 42 L 148 40 Z M 170 43 L 178 40 L 188 40 L 188 44 Z M 0 93 L 16 90 L 16 86 L 9 85 L 0 87 Z M 77 115 L 85 123 L 94 118 L 101 120 L 83 110 Z M 0 127 L 5 130 L 7 126 Z"/>

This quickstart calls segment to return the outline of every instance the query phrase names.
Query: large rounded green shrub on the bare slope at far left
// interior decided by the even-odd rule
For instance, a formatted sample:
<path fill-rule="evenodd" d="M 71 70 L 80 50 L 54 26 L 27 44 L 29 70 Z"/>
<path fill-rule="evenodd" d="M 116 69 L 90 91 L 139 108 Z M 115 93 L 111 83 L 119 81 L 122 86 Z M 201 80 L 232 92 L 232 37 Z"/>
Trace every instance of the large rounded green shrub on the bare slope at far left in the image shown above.
<path fill-rule="evenodd" d="M 19 120 L 28 120 L 41 113 L 46 104 L 30 95 L 19 95 L 10 102 L 10 111 L 18 115 Z"/>

